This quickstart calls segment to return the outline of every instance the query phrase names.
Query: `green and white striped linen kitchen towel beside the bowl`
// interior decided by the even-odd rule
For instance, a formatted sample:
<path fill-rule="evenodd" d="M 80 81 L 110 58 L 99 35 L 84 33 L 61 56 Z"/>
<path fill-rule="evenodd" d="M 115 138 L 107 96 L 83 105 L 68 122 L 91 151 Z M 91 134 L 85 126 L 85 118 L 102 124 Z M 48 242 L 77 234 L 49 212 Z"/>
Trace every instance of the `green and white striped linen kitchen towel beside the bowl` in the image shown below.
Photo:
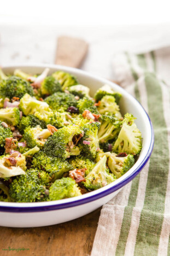
<path fill-rule="evenodd" d="M 170 255 L 170 47 L 117 54 L 113 70 L 149 113 L 155 145 L 142 172 L 103 206 L 91 256 Z"/>

